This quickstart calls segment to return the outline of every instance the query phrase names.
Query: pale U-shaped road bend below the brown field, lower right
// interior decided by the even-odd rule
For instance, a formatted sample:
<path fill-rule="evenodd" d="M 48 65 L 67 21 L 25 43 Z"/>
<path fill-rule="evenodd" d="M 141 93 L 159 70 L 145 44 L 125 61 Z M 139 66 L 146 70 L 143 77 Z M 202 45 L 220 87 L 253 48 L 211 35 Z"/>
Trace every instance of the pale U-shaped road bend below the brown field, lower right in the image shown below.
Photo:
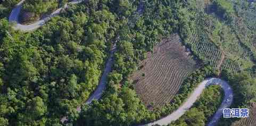
<path fill-rule="evenodd" d="M 209 78 L 205 79 L 203 82 L 201 82 L 193 91 L 193 93 L 187 98 L 186 102 L 181 105 L 178 110 L 172 112 L 170 115 L 163 117 L 160 120 L 154 121 L 152 123 L 148 123 L 145 125 L 168 125 L 172 121 L 175 121 L 179 119 L 180 116 L 185 114 L 189 108 L 192 107 L 193 103 L 196 102 L 197 98 L 202 94 L 203 89 L 207 88 L 210 85 L 220 85 L 221 88 L 225 92 L 224 99 L 222 100 L 222 103 L 220 107 L 218 108 L 218 111 L 213 115 L 211 121 L 207 124 L 209 126 L 216 125 L 220 117 L 222 116 L 222 109 L 223 108 L 228 108 L 232 102 L 233 102 L 233 90 L 232 88 L 228 85 L 226 81 L 223 81 L 219 78 Z M 142 126 L 142 125 L 141 125 Z"/>

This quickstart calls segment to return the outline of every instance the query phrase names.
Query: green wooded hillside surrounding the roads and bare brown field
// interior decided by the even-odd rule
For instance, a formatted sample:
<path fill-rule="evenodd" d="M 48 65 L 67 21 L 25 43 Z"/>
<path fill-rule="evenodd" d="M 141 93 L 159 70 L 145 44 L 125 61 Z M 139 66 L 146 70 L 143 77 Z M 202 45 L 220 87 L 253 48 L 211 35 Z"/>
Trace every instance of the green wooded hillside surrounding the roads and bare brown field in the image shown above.
<path fill-rule="evenodd" d="M 70 5 L 32 32 L 13 30 L 7 21 L 18 2 L 0 1 L 0 125 L 63 125 L 63 116 L 69 118 L 67 125 L 144 124 L 170 114 L 198 83 L 219 72 L 235 90 L 232 107 L 256 102 L 255 6 L 246 1 L 85 1 Z M 40 2 L 26 1 L 23 10 L 40 15 L 68 1 Z M 42 2 L 52 6 L 39 6 Z M 194 59 L 204 65 L 189 75 L 170 104 L 148 110 L 128 76 L 139 69 L 146 52 L 172 33 L 178 33 Z M 84 105 L 100 81 L 115 41 L 107 89 L 101 100 Z M 214 61 L 207 51 L 225 52 L 220 69 L 216 67 L 220 58 Z M 221 100 L 215 94 L 221 95 L 217 86 L 205 90 L 194 107 L 173 124 L 207 123 Z M 214 105 L 209 108 L 209 104 Z M 221 120 L 220 125 L 235 120 Z"/>

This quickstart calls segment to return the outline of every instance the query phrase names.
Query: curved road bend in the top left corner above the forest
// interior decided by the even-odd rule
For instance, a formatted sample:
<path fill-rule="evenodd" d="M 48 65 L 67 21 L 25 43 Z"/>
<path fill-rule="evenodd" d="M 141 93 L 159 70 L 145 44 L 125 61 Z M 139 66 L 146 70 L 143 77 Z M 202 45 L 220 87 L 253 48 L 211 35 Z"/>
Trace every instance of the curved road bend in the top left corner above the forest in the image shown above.
<path fill-rule="evenodd" d="M 74 0 L 72 2 L 69 2 L 68 4 L 78 4 L 81 3 L 83 0 Z M 49 21 L 53 16 L 59 15 L 61 13 L 61 10 L 63 8 L 57 9 L 52 14 L 48 15 L 47 17 L 40 19 L 37 22 L 34 22 L 29 25 L 23 25 L 19 22 L 19 15 L 20 11 L 22 9 L 22 4 L 25 2 L 25 0 L 22 0 L 20 3 L 18 3 L 15 8 L 12 10 L 10 16 L 9 16 L 9 22 L 14 22 L 16 25 L 14 26 L 14 29 L 21 30 L 21 31 L 31 31 L 35 30 L 45 24 L 45 22 Z M 64 5 L 64 8 L 68 7 L 68 4 Z"/>

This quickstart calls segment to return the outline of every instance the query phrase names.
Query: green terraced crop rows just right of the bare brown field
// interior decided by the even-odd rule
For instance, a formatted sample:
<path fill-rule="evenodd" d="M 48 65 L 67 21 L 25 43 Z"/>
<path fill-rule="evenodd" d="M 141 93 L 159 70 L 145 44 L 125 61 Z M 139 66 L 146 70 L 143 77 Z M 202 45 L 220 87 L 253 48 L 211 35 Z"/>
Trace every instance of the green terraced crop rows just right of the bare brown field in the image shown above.
<path fill-rule="evenodd" d="M 213 68 L 216 68 L 221 60 L 220 49 L 210 40 L 206 31 L 201 28 L 195 28 L 187 39 L 191 44 L 192 51 L 198 55 L 204 62 Z"/>

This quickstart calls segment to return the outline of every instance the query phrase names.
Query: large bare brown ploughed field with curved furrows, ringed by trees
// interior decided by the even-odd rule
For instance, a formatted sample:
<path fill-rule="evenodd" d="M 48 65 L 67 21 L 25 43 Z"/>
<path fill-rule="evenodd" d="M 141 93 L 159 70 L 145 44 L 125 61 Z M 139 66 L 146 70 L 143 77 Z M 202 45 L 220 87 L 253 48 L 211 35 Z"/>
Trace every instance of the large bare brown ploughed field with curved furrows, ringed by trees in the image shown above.
<path fill-rule="evenodd" d="M 171 35 L 148 53 L 130 79 L 146 106 L 161 107 L 176 95 L 183 80 L 197 68 L 178 35 Z"/>

